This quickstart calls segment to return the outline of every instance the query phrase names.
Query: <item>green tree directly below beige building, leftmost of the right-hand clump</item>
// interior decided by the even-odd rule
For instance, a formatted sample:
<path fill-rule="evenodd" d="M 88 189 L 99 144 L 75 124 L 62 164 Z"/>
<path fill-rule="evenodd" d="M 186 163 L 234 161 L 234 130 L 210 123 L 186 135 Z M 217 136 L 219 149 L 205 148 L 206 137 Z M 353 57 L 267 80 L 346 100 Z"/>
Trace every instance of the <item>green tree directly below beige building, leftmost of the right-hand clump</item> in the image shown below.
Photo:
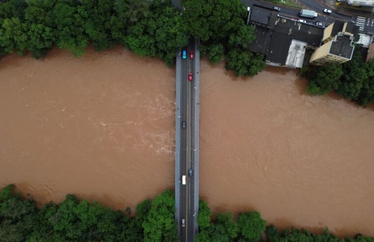
<path fill-rule="evenodd" d="M 326 64 L 314 69 L 309 78 L 307 91 L 310 94 L 325 94 L 338 90 L 341 85 L 340 77 L 343 75 L 341 64 Z"/>

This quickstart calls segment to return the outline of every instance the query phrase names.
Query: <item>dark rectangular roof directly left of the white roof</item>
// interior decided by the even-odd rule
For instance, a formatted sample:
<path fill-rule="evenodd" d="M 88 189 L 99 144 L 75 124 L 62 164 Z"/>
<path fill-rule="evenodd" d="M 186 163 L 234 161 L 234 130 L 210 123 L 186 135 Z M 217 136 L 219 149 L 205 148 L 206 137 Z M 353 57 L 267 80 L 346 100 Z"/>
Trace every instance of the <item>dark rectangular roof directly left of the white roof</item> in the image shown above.
<path fill-rule="evenodd" d="M 273 32 L 266 56 L 266 61 L 285 65 L 291 41 L 292 37 L 288 34 Z"/>

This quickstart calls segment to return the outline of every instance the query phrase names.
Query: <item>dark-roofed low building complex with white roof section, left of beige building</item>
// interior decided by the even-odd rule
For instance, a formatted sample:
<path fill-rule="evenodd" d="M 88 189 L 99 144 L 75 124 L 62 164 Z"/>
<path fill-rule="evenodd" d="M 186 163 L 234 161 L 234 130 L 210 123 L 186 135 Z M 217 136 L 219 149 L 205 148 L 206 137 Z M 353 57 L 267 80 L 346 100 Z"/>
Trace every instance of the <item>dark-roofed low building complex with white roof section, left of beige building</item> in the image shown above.
<path fill-rule="evenodd" d="M 301 68 L 306 50 L 316 49 L 323 36 L 323 28 L 278 16 L 278 11 L 256 4 L 249 20 L 255 25 L 256 39 L 248 49 L 263 54 L 268 65 Z"/>

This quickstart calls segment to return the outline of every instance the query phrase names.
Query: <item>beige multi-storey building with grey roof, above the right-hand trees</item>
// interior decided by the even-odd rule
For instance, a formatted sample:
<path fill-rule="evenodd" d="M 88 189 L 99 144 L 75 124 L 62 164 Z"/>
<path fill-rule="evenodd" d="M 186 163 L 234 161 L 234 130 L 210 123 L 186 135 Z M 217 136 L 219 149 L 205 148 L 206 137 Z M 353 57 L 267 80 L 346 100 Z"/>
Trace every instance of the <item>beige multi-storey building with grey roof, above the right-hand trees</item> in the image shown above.
<path fill-rule="evenodd" d="M 309 62 L 343 63 L 352 59 L 358 27 L 350 22 L 335 21 L 323 31 L 321 46 L 313 53 Z"/>

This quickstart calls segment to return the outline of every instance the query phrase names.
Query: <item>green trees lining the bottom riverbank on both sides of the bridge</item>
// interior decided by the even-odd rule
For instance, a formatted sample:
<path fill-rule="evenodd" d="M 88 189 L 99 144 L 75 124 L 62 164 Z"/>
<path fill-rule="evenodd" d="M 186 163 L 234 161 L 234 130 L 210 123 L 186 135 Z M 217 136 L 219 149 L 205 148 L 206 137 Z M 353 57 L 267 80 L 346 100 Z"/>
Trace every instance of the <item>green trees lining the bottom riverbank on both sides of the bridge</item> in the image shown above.
<path fill-rule="evenodd" d="M 98 202 L 79 201 L 67 195 L 60 204 L 48 203 L 37 209 L 35 202 L 21 197 L 8 185 L 0 190 L 0 242 L 177 242 L 174 193 L 166 190 L 153 200 L 144 200 L 133 214 L 129 208 L 113 211 Z M 307 230 L 278 231 L 266 227 L 259 212 L 212 213 L 206 202 L 199 203 L 197 242 L 374 242 L 357 235 L 339 239 Z"/>

